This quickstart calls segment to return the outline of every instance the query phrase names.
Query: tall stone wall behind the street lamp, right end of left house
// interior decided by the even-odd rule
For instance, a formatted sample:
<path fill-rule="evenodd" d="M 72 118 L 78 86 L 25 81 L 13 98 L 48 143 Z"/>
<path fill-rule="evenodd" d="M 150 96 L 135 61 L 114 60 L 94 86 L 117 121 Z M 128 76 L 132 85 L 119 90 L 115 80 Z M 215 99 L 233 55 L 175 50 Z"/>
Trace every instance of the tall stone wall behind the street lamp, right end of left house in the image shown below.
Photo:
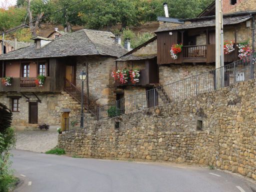
<path fill-rule="evenodd" d="M 88 62 L 89 95 L 99 105 L 107 104 L 115 100 L 114 80 L 111 72 L 115 68 L 114 57 L 107 56 L 79 56 L 76 64 L 76 86 L 81 88 L 79 73 L 86 71 Z M 86 81 L 84 82 L 86 93 Z"/>

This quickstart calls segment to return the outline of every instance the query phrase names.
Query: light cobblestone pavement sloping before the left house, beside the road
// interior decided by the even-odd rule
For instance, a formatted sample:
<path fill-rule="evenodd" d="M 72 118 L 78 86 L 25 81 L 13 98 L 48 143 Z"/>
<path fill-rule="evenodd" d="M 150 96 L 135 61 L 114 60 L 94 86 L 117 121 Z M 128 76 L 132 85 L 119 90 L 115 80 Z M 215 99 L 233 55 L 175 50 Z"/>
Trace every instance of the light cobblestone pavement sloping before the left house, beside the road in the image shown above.
<path fill-rule="evenodd" d="M 56 128 L 38 131 L 16 131 L 16 149 L 45 152 L 57 145 Z"/>

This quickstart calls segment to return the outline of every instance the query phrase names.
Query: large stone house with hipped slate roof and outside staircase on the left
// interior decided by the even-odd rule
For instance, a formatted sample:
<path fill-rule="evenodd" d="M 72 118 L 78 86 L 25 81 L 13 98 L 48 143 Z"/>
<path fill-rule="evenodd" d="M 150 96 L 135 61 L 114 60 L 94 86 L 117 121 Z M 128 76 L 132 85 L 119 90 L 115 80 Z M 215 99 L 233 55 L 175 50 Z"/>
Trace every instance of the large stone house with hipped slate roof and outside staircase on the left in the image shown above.
<path fill-rule="evenodd" d="M 86 64 L 90 102 L 85 96 L 85 109 L 115 100 L 111 70 L 127 50 L 111 32 L 81 29 L 53 40 L 33 39 L 34 45 L 0 56 L 0 81 L 12 77 L 11 85 L 0 83 L 0 102 L 12 109 L 13 125 L 58 124 L 63 107 L 78 114 L 79 73 Z M 38 74 L 45 76 L 43 86 L 35 83 Z"/>

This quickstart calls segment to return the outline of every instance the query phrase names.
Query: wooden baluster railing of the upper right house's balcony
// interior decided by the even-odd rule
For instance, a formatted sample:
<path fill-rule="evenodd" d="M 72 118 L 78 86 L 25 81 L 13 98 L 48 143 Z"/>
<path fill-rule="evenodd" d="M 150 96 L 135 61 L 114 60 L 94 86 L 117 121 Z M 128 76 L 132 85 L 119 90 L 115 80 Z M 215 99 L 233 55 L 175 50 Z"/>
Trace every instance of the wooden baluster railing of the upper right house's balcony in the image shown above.
<path fill-rule="evenodd" d="M 206 57 L 207 45 L 183 46 L 183 57 Z"/>

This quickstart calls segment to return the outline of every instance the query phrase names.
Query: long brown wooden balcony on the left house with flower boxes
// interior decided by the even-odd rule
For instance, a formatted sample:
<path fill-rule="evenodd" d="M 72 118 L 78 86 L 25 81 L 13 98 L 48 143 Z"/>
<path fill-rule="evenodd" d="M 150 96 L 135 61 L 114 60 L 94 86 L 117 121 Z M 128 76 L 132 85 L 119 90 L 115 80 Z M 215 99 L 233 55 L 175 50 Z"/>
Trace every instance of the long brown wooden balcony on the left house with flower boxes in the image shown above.
<path fill-rule="evenodd" d="M 16 92 L 53 92 L 51 77 L 46 77 L 43 86 L 35 84 L 35 77 L 13 77 L 10 86 L 2 84 L 0 78 L 0 91 L 16 91 Z"/>

